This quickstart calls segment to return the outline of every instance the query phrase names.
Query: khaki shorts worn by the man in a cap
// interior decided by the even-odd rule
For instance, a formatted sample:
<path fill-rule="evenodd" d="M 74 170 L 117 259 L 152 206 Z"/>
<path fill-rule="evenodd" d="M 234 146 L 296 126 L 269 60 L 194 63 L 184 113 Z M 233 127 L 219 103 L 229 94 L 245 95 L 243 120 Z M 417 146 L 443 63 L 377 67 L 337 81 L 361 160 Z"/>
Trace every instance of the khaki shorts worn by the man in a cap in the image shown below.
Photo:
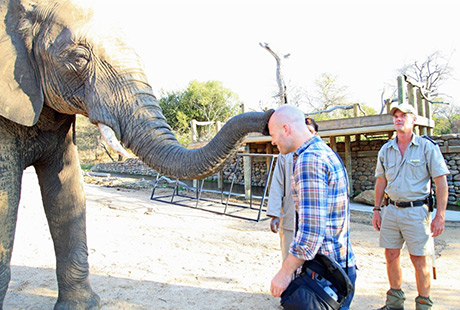
<path fill-rule="evenodd" d="M 426 256 L 433 253 L 431 237 L 431 213 L 428 206 L 397 208 L 390 204 L 382 208 L 380 246 L 401 249 L 407 244 L 409 253 Z"/>

